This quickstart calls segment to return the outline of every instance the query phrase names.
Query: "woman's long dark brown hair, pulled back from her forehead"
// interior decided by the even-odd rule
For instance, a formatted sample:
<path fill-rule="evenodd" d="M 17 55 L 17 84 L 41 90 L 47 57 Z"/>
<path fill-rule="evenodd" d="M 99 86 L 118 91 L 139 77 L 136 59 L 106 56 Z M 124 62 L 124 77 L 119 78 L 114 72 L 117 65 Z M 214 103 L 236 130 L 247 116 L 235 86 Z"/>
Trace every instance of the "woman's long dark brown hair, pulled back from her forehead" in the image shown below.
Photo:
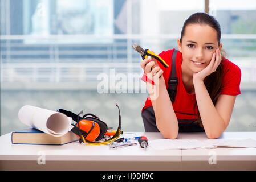
<path fill-rule="evenodd" d="M 182 37 L 185 34 L 186 26 L 189 24 L 204 24 L 208 25 L 217 32 L 217 39 L 218 39 L 218 45 L 220 45 L 221 42 L 221 26 L 218 23 L 218 21 L 209 14 L 206 13 L 194 13 L 189 16 L 189 18 L 185 21 L 182 30 L 181 30 L 181 38 L 180 41 L 182 42 Z M 223 55 L 223 52 L 222 52 Z M 224 60 L 225 57 L 222 56 L 222 60 Z M 222 84 L 222 64 L 220 64 L 216 71 L 207 76 L 204 80 L 204 84 L 206 86 L 206 89 L 210 95 L 210 98 L 213 101 L 213 104 L 216 105 L 216 102 L 218 100 L 218 97 L 220 96 L 221 91 L 221 84 Z M 197 103 L 194 105 L 194 110 L 196 110 Z M 198 110 L 198 119 L 196 121 L 201 127 L 202 127 L 202 121 L 200 117 L 200 113 Z"/>

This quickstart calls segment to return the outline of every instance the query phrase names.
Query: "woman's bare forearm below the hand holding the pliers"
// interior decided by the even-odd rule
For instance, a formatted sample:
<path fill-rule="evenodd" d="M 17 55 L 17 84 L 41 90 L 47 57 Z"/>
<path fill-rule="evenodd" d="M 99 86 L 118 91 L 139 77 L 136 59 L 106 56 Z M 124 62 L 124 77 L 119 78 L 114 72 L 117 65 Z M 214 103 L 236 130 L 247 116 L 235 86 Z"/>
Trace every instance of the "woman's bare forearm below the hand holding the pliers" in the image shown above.
<path fill-rule="evenodd" d="M 158 95 L 150 94 L 156 125 L 165 138 L 175 139 L 178 136 L 178 120 L 165 86 L 159 86 Z"/>

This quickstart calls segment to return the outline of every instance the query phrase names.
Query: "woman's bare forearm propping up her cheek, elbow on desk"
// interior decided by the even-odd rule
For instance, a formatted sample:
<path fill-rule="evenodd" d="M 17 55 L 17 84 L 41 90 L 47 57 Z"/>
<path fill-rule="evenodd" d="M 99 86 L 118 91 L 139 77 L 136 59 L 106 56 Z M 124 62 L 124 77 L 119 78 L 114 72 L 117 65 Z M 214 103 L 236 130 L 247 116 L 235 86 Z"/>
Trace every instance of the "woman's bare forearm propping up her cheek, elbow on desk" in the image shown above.
<path fill-rule="evenodd" d="M 209 96 L 204 81 L 195 81 L 194 89 L 206 135 L 211 139 L 220 137 L 226 126 Z"/>

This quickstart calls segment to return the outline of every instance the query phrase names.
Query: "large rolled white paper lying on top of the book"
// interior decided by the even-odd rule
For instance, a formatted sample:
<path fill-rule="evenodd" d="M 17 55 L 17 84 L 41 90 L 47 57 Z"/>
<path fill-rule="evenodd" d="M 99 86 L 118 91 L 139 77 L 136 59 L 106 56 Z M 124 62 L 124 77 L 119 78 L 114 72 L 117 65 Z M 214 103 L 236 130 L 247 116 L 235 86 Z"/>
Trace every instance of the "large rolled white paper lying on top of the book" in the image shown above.
<path fill-rule="evenodd" d="M 72 118 L 63 113 L 26 105 L 18 113 L 19 120 L 54 137 L 60 137 L 71 130 Z"/>

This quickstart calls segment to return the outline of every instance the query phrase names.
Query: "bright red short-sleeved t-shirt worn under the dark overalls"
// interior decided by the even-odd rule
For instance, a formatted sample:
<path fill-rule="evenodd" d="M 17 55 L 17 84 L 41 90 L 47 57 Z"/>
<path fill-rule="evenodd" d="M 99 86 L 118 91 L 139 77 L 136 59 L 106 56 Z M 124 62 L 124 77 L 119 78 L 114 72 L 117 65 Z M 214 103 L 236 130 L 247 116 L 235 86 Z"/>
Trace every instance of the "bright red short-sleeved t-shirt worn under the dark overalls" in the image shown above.
<path fill-rule="evenodd" d="M 165 60 L 169 65 L 168 68 L 165 68 L 161 63 L 159 63 L 160 68 L 164 71 L 163 76 L 166 83 L 166 88 L 168 88 L 168 81 L 170 77 L 170 71 L 172 67 L 172 53 L 174 49 L 168 51 L 162 51 L 159 56 Z M 178 77 L 177 93 L 175 101 L 172 103 L 173 109 L 176 113 L 177 119 L 197 119 L 198 109 L 195 108 L 196 104 L 196 95 L 189 94 L 186 92 L 183 81 L 182 81 L 182 72 L 181 72 L 181 63 L 182 63 L 182 53 L 177 52 L 176 56 L 176 76 Z M 223 65 L 223 77 L 222 77 L 222 86 L 221 93 L 225 95 L 237 96 L 241 94 L 240 92 L 240 81 L 241 81 L 241 70 L 240 68 L 232 63 L 231 61 L 225 59 L 221 61 Z M 147 98 L 145 105 L 142 109 L 152 106 L 150 97 Z"/>

